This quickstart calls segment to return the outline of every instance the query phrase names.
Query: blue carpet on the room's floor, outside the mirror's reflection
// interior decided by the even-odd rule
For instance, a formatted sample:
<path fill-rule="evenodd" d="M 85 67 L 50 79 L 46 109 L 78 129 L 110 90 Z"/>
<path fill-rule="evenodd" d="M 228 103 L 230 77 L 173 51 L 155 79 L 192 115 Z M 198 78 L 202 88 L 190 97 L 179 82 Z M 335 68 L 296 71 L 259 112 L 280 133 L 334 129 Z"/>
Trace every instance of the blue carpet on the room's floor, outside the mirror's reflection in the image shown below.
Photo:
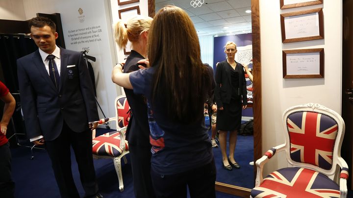
<path fill-rule="evenodd" d="M 100 129 L 97 134 L 108 132 Z M 34 149 L 34 159 L 30 160 L 30 148 L 11 148 L 12 178 L 16 183 L 16 198 L 60 198 L 46 150 Z M 79 173 L 74 152 L 71 152 L 72 170 L 77 190 L 81 197 L 84 191 L 79 181 Z M 94 160 L 98 185 L 104 198 L 133 198 L 132 173 L 127 155 L 127 164 L 122 162 L 124 191 L 119 191 L 118 176 L 111 159 Z M 217 192 L 217 198 L 236 198 L 236 196 Z"/>

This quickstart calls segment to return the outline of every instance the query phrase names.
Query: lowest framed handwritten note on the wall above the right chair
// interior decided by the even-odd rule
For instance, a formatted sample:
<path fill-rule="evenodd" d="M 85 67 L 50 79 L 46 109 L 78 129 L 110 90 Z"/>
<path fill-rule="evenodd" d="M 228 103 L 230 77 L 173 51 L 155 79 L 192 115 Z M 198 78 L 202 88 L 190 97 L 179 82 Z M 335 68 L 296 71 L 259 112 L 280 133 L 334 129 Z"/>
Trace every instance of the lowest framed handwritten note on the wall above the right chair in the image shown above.
<path fill-rule="evenodd" d="M 283 50 L 283 78 L 323 78 L 324 49 Z"/>

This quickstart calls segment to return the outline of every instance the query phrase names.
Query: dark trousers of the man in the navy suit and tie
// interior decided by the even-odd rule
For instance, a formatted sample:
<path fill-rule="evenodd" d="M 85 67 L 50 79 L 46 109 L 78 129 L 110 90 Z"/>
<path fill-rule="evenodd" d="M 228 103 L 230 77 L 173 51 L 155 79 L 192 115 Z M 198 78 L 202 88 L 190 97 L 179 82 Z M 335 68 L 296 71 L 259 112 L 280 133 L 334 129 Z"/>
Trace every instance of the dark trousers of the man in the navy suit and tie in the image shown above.
<path fill-rule="evenodd" d="M 93 165 L 91 130 L 76 133 L 64 122 L 59 137 L 52 141 L 46 141 L 45 145 L 62 198 L 79 198 L 71 170 L 70 146 L 75 152 L 85 196 L 97 194 L 98 184 Z"/>

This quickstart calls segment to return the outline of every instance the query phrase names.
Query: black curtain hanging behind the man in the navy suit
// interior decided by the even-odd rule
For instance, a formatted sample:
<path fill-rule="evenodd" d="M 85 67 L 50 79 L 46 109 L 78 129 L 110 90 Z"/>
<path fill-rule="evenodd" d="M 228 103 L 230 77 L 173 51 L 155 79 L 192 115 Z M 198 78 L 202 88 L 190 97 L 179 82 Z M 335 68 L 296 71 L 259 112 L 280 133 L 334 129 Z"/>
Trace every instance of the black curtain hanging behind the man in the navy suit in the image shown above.
<path fill-rule="evenodd" d="M 10 122 L 7 129 L 7 137 L 10 137 L 14 132 L 25 133 L 25 125 L 21 113 L 21 100 L 19 93 L 19 84 L 17 77 L 16 60 L 31 52 L 34 52 L 38 47 L 33 40 L 24 34 L 0 34 L 0 80 L 9 88 L 10 93 L 16 99 L 16 109 L 12 116 L 13 123 Z M 1 102 L 0 115 L 3 112 L 3 102 Z M 1 118 L 1 117 L 0 117 Z M 18 136 L 26 139 L 25 136 Z M 11 145 L 15 138 L 10 139 Z"/>

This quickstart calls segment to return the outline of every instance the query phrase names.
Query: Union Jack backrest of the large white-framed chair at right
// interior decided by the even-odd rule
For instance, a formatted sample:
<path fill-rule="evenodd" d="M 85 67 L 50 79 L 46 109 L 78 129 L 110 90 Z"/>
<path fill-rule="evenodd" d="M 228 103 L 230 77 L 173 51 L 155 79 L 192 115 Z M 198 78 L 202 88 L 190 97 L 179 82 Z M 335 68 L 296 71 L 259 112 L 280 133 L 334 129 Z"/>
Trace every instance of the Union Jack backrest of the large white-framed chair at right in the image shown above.
<path fill-rule="evenodd" d="M 333 179 L 345 131 L 341 116 L 320 104 L 307 103 L 285 110 L 283 127 L 288 163 Z"/>

